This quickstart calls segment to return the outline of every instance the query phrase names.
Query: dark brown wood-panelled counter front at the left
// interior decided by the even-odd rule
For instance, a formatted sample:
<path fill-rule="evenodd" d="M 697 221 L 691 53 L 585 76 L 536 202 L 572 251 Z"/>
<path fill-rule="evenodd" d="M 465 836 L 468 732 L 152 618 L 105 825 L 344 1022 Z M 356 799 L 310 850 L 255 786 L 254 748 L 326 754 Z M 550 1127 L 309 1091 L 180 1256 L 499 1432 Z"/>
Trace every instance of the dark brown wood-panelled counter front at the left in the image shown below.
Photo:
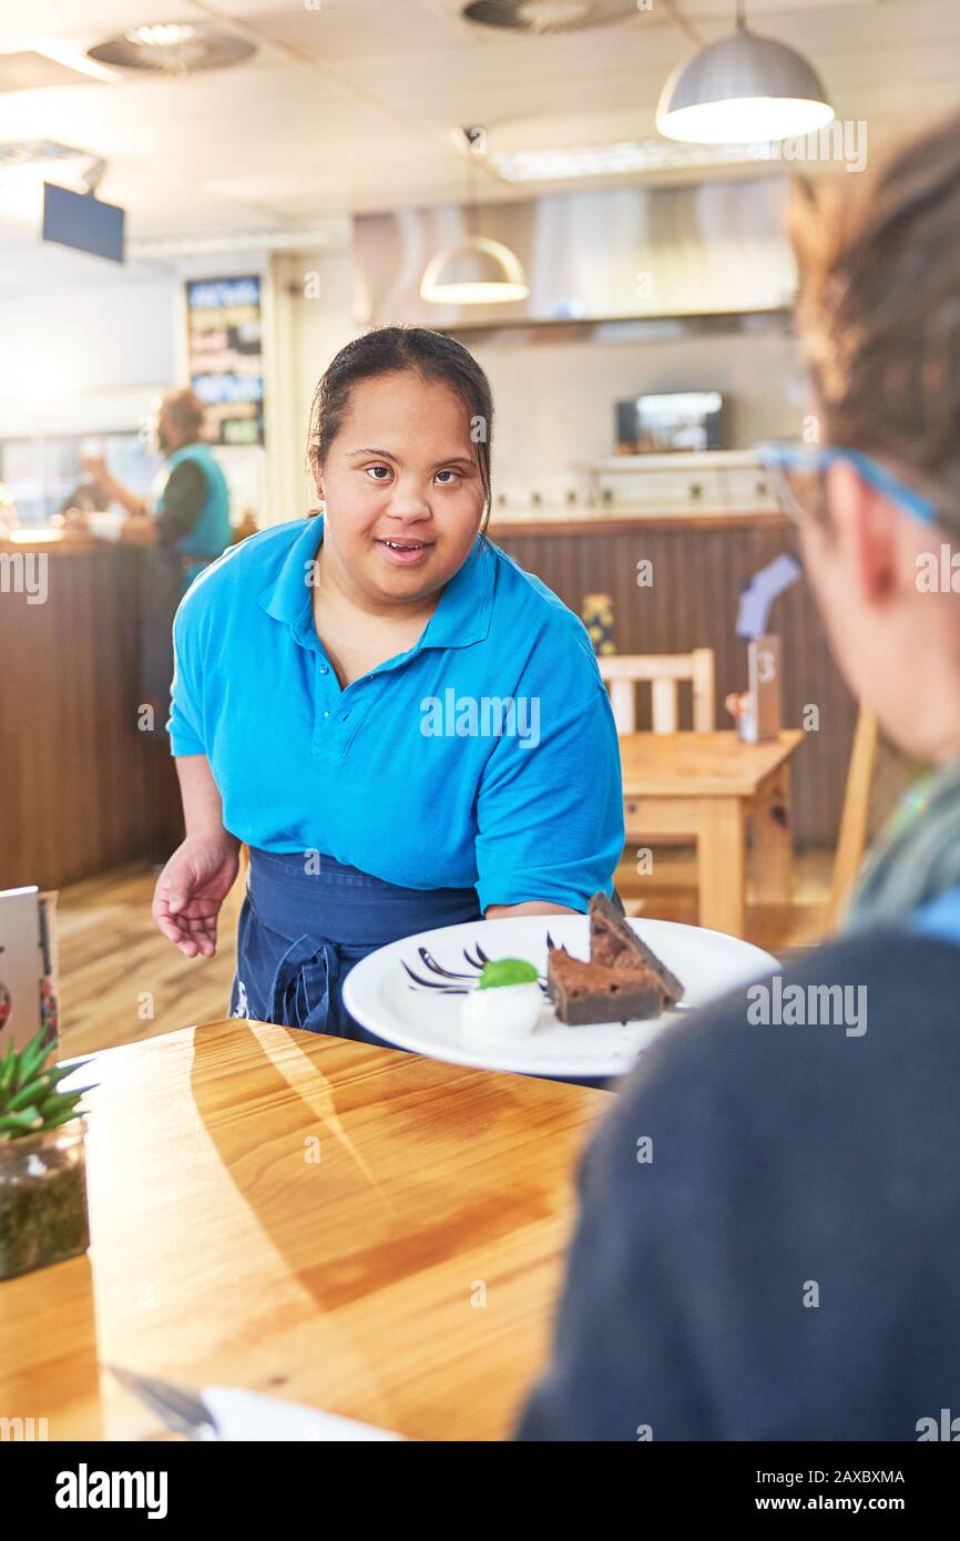
<path fill-rule="evenodd" d="M 57 550 L 46 603 L 0 593 L 0 888 L 59 888 L 180 838 L 166 744 L 137 730 L 140 561 Z"/>

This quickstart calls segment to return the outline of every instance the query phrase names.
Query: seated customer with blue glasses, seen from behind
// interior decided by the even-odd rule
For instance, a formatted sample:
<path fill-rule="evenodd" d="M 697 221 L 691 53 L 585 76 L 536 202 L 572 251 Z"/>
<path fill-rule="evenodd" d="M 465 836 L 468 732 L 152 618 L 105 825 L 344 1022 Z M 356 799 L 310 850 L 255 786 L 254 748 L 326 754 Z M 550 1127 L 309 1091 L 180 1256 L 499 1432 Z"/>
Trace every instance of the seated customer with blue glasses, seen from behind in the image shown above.
<path fill-rule="evenodd" d="M 915 1441 L 960 1412 L 958 237 L 957 117 L 797 199 L 821 447 L 767 462 L 848 683 L 934 781 L 846 935 L 623 1083 L 519 1439 Z"/>

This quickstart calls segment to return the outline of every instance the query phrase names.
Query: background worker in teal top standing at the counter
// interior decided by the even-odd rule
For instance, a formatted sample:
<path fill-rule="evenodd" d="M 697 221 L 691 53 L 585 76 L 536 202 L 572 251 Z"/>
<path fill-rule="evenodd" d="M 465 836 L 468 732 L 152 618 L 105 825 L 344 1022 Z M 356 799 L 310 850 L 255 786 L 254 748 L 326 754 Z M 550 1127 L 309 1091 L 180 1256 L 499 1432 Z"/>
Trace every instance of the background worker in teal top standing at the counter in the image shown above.
<path fill-rule="evenodd" d="M 166 741 L 173 618 L 193 579 L 231 542 L 227 478 L 202 430 L 202 401 L 191 390 L 168 391 L 157 416 L 157 445 L 166 464 L 153 499 L 111 476 L 102 456 L 82 461 L 94 487 L 128 513 L 120 539 L 149 549 L 143 566 L 140 695 L 153 707 L 159 743 Z"/>

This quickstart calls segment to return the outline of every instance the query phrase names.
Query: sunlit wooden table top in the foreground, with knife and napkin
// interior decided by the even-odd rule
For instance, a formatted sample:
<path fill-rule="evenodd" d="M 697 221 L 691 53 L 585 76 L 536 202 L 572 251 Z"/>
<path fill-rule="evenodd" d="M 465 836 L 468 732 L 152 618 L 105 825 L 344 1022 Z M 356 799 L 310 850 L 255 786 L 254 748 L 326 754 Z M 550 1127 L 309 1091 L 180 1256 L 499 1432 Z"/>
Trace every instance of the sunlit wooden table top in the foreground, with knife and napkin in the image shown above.
<path fill-rule="evenodd" d="M 96 1056 L 91 1250 L 0 1284 L 0 1415 L 157 1438 L 103 1364 L 501 1439 L 610 1094 L 239 1020 Z"/>

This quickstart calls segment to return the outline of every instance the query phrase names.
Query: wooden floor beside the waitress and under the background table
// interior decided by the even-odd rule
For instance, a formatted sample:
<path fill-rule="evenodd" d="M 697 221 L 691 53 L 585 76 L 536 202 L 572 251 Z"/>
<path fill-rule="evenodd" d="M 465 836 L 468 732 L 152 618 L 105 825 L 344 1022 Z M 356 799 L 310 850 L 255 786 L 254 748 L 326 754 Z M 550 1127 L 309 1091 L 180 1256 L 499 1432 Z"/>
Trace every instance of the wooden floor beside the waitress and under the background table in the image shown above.
<path fill-rule="evenodd" d="M 800 855 L 794 906 L 780 912 L 750 906 L 749 938 L 777 954 L 817 940 L 831 861 L 827 851 Z M 62 889 L 57 931 L 65 1054 L 149 1039 L 228 1014 L 240 885 L 223 906 L 217 955 L 185 959 L 153 925 L 154 881 L 156 874 L 137 865 Z M 624 863 L 616 886 L 632 915 L 697 923 L 692 849 L 658 849 L 655 872 L 644 877 Z"/>

